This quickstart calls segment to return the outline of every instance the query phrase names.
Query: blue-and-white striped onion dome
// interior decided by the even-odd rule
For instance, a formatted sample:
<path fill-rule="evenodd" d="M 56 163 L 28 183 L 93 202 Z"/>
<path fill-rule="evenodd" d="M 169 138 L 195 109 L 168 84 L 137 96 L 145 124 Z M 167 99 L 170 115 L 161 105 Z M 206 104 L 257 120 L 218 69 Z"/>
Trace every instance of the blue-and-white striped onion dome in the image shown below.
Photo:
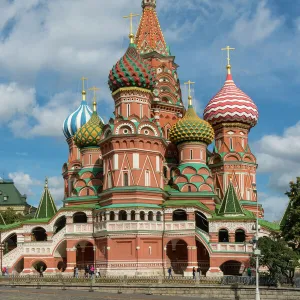
<path fill-rule="evenodd" d="M 81 101 L 80 106 L 71 113 L 64 121 L 63 132 L 68 139 L 72 137 L 76 131 L 89 121 L 93 111 L 89 108 L 85 100 Z"/>

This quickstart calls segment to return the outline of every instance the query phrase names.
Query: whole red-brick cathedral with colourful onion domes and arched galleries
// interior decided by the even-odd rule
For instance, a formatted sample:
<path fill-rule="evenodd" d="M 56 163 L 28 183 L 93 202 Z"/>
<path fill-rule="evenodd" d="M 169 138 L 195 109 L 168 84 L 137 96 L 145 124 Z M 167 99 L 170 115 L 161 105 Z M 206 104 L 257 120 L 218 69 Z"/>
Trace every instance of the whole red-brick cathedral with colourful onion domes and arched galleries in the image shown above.
<path fill-rule="evenodd" d="M 233 81 L 231 48 L 224 85 L 201 118 L 191 81 L 183 105 L 156 2 L 142 1 L 137 32 L 108 72 L 114 117 L 107 124 L 96 97 L 88 105 L 82 78 L 82 101 L 63 123 L 63 206 L 56 208 L 46 180 L 33 219 L 5 225 L 0 215 L 1 266 L 10 272 L 43 266 L 45 274 L 70 274 L 94 265 L 107 276 L 163 276 L 169 267 L 183 276 L 193 267 L 206 276 L 240 275 L 253 253 L 256 217 L 260 236 L 277 229 L 257 203 L 248 134 L 258 109 Z"/>

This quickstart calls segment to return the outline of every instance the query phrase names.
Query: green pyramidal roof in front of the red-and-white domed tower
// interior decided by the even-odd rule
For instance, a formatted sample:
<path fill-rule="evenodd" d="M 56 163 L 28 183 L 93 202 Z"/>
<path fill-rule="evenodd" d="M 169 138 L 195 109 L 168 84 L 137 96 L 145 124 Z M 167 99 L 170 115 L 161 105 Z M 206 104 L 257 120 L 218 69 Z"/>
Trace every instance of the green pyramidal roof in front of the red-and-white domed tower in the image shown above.
<path fill-rule="evenodd" d="M 227 191 L 225 193 L 224 199 L 221 203 L 221 207 L 218 212 L 219 215 L 244 215 L 244 211 L 237 198 L 235 189 L 230 182 Z"/>

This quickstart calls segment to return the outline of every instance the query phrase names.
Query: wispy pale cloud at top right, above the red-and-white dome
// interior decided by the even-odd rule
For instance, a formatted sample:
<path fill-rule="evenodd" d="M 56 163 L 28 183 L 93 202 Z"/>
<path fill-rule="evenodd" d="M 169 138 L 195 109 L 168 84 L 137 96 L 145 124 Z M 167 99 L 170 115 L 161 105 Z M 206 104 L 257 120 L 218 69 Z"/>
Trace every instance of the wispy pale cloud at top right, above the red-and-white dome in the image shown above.
<path fill-rule="evenodd" d="M 265 0 L 261 1 L 253 17 L 250 12 L 242 15 L 233 28 L 231 36 L 244 46 L 254 45 L 268 38 L 284 21 L 282 17 L 275 18 L 267 7 Z"/>

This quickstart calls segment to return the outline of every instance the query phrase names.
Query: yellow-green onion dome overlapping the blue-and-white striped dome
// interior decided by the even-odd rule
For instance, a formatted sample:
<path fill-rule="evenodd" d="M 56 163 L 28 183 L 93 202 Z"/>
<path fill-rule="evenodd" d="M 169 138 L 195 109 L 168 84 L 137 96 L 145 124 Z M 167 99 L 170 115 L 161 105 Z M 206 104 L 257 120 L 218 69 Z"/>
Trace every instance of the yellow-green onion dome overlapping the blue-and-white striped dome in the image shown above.
<path fill-rule="evenodd" d="M 103 121 L 97 114 L 97 104 L 93 103 L 94 111 L 90 120 L 78 129 L 74 136 L 74 142 L 78 148 L 95 147 L 100 141 Z"/>

